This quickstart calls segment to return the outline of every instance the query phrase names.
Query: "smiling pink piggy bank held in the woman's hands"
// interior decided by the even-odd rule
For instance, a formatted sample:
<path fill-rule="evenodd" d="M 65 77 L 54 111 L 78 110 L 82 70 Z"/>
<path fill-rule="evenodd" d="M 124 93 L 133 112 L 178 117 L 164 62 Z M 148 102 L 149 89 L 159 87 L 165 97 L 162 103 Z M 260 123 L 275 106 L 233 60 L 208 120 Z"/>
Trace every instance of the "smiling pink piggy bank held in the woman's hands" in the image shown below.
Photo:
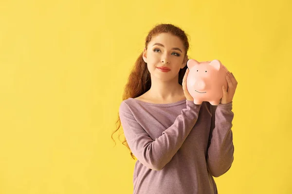
<path fill-rule="evenodd" d="M 204 61 L 199 63 L 194 59 L 187 62 L 189 73 L 186 79 L 186 88 L 194 98 L 195 104 L 203 101 L 212 105 L 219 105 L 223 97 L 222 85 L 228 87 L 226 76 L 227 68 L 219 60 Z"/>

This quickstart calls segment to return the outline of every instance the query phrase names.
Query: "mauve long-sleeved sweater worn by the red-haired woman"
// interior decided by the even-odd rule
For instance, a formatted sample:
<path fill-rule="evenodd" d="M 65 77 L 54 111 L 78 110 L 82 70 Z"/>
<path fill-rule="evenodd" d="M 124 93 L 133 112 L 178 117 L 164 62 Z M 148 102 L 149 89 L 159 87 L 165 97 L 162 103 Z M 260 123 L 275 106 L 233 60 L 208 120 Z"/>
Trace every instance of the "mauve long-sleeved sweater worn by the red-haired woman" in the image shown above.
<path fill-rule="evenodd" d="M 213 177 L 233 162 L 231 110 L 232 102 L 122 101 L 122 128 L 137 158 L 133 194 L 218 194 Z"/>

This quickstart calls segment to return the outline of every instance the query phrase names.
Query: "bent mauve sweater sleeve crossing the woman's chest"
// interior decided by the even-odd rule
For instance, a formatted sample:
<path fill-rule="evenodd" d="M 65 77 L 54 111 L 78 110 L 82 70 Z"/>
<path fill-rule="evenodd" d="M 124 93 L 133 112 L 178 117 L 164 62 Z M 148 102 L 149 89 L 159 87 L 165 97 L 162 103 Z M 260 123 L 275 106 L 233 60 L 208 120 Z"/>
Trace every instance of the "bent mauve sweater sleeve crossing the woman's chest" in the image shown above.
<path fill-rule="evenodd" d="M 201 105 L 186 100 L 186 108 L 182 109 L 174 123 L 153 141 L 146 130 L 136 121 L 128 105 L 122 102 L 119 116 L 132 153 L 148 168 L 156 171 L 163 169 L 171 161 L 196 124 L 200 107 Z"/>

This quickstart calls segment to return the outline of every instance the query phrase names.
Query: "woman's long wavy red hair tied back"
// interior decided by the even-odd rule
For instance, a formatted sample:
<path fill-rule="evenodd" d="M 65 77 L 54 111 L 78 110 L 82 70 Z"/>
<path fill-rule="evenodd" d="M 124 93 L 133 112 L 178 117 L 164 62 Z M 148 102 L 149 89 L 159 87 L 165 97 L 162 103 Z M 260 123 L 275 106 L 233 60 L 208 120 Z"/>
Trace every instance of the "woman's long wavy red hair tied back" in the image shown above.
<path fill-rule="evenodd" d="M 152 37 L 160 34 L 160 33 L 170 33 L 172 35 L 175 35 L 179 37 L 182 42 L 183 46 L 185 49 L 185 55 L 187 55 L 187 51 L 189 49 L 189 42 L 188 42 L 188 34 L 186 34 L 182 29 L 179 27 L 173 25 L 173 24 L 157 24 L 152 30 L 148 32 L 148 35 L 146 36 L 145 39 L 145 48 L 147 49 L 148 43 L 151 41 Z M 188 60 L 188 59 L 187 59 Z M 185 74 L 185 71 L 187 69 L 187 65 L 183 67 L 183 69 L 180 69 L 179 71 L 179 84 L 182 85 L 183 82 L 183 76 Z M 123 100 L 128 99 L 129 97 L 135 98 L 143 95 L 146 93 L 151 87 L 151 79 L 150 79 L 150 72 L 148 71 L 147 64 L 143 60 L 143 51 L 138 57 L 138 59 L 135 62 L 135 65 L 133 66 L 133 69 L 130 72 L 130 75 L 128 77 L 128 82 L 124 88 L 124 93 L 123 93 Z M 120 116 L 118 113 L 118 119 L 116 121 L 116 130 L 114 130 L 111 134 L 111 139 L 114 141 L 112 138 L 112 135 L 117 132 L 121 127 L 121 120 Z M 120 140 L 120 135 L 119 134 L 119 140 Z M 115 141 L 114 141 L 115 142 Z M 126 138 L 124 138 L 124 141 L 122 144 L 126 147 L 128 147 L 130 151 L 131 157 L 135 160 L 135 156 L 131 152 L 131 149 L 128 146 Z"/>

